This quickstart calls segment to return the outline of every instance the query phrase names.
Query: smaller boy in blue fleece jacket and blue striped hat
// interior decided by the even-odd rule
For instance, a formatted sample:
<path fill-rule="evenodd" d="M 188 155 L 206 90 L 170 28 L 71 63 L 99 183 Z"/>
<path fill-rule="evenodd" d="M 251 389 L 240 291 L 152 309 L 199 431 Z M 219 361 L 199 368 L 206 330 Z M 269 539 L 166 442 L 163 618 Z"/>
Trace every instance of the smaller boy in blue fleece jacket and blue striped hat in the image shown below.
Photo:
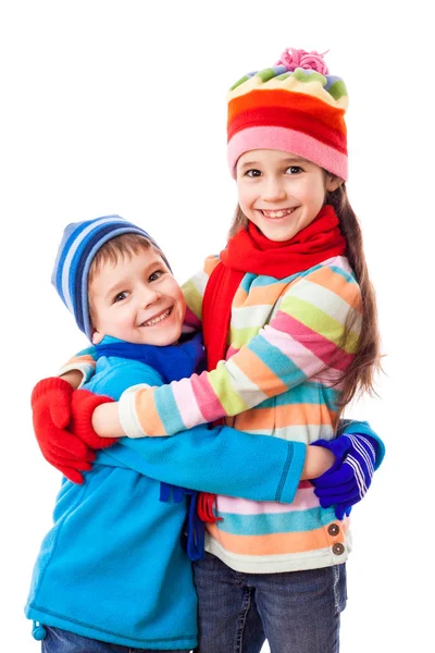
<path fill-rule="evenodd" d="M 83 393 L 117 401 L 132 384 L 161 385 L 203 369 L 198 336 L 181 341 L 182 291 L 144 230 L 117 215 L 69 225 L 52 281 L 96 348 L 96 373 Z M 47 384 L 66 382 L 41 383 L 47 392 Z M 88 412 L 100 401 L 108 398 L 89 393 Z M 78 412 L 73 405 L 76 432 L 88 421 L 86 402 L 79 406 Z M 195 648 L 197 599 L 182 545 L 195 495 L 179 486 L 291 502 L 300 478 L 330 465 L 331 453 L 322 447 L 312 447 L 306 459 L 300 443 L 228 427 L 198 427 L 183 438 L 123 438 L 101 449 L 83 484 L 63 480 L 54 526 L 35 566 L 26 615 L 39 623 L 34 636 L 44 640 L 42 651 Z M 190 539 L 200 535 L 191 532 L 192 522 Z"/>

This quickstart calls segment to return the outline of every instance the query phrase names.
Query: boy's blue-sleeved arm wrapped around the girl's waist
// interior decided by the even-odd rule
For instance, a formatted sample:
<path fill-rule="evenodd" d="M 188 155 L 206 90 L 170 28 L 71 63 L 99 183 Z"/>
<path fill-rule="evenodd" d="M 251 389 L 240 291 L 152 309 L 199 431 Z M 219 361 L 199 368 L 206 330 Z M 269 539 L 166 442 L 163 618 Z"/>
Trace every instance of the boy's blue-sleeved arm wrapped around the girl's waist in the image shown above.
<path fill-rule="evenodd" d="M 154 370 L 137 361 L 119 359 L 119 362 L 99 365 L 99 373 L 89 389 L 114 399 L 129 383 L 161 383 Z M 309 452 L 307 458 L 306 452 Z M 330 455 L 326 465 L 325 453 Z M 191 490 L 286 503 L 293 501 L 301 478 L 322 473 L 321 468 L 315 469 L 320 460 L 323 460 L 321 468 L 326 469 L 334 456 L 326 449 L 306 447 L 300 442 L 206 426 L 185 431 L 183 438 L 124 438 L 98 455 L 100 464 L 121 463 L 157 480 Z"/>

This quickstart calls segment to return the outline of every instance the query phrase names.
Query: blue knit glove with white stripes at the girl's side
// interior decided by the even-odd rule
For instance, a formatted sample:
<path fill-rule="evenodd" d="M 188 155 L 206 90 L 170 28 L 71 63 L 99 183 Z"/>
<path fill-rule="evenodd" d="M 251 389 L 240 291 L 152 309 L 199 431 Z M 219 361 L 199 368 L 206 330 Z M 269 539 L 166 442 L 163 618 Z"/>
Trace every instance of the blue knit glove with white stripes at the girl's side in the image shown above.
<path fill-rule="evenodd" d="M 377 442 L 370 435 L 344 433 L 335 440 L 318 440 L 312 446 L 324 446 L 336 457 L 331 469 L 311 482 L 322 508 L 334 506 L 337 519 L 344 519 L 370 488 Z"/>

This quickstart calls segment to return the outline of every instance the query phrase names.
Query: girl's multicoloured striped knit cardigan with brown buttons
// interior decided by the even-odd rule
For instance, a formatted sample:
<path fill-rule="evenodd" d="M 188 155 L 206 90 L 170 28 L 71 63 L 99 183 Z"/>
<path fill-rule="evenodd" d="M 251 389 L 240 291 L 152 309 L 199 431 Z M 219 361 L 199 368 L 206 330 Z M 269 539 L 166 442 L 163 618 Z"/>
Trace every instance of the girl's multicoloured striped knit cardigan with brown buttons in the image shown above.
<path fill-rule="evenodd" d="M 217 262 L 208 258 L 184 285 L 190 328 L 200 328 L 204 288 Z M 344 257 L 281 280 L 246 274 L 233 300 L 227 360 L 190 379 L 126 391 L 120 402 L 125 432 L 172 435 L 224 417 L 238 430 L 306 444 L 334 438 L 337 379 L 356 352 L 360 311 L 359 286 Z M 352 326 L 343 343 L 348 319 Z M 86 371 L 89 364 L 82 364 Z M 347 424 L 346 432 L 376 438 L 361 422 Z M 309 482 L 291 505 L 219 496 L 216 512 L 222 521 L 208 525 L 207 550 L 239 571 L 325 567 L 345 562 L 350 551 L 349 520 L 339 522 L 333 508 L 321 508 Z"/>

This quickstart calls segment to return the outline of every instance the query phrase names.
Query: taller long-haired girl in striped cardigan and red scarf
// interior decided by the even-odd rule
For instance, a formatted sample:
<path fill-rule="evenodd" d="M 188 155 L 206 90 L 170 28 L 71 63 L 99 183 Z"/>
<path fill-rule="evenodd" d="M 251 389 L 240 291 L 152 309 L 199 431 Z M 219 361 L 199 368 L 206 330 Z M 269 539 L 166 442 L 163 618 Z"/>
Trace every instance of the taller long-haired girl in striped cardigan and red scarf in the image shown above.
<path fill-rule="evenodd" d="M 272 653 L 338 650 L 350 551 L 349 520 L 340 518 L 383 457 L 361 423 L 335 439 L 344 407 L 372 390 L 378 367 L 375 299 L 345 187 L 346 107 L 343 81 L 316 52 L 289 49 L 233 86 L 228 162 L 239 206 L 225 250 L 185 286 L 211 371 L 126 391 L 92 416 L 99 435 L 130 438 L 225 418 L 337 456 L 316 489 L 301 483 L 290 506 L 203 498 L 208 554 L 195 568 L 201 652 L 241 650 L 253 599 Z"/>

